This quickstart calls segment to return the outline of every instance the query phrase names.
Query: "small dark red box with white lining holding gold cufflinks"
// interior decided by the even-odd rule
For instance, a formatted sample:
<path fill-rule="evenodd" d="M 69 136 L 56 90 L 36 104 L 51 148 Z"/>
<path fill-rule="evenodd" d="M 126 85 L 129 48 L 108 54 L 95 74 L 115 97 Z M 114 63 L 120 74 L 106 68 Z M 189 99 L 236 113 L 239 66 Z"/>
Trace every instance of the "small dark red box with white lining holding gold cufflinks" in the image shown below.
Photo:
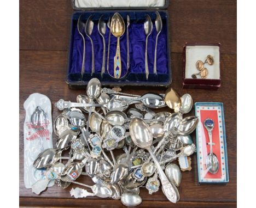
<path fill-rule="evenodd" d="M 185 44 L 183 50 L 184 88 L 218 89 L 220 87 L 219 49 L 220 44 Z M 207 61 L 208 57 L 212 58 L 211 62 Z"/>

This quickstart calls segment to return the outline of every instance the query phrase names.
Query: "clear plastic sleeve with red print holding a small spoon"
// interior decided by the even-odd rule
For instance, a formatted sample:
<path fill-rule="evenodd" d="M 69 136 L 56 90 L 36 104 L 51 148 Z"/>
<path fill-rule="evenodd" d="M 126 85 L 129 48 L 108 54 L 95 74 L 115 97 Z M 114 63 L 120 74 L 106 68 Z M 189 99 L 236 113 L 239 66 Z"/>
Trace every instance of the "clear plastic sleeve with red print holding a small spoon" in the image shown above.
<path fill-rule="evenodd" d="M 53 123 L 50 99 L 33 93 L 24 102 L 24 183 L 26 188 L 45 178 L 46 169 L 33 168 L 33 162 L 45 149 L 53 148 Z M 53 186 L 49 183 L 49 186 Z"/>

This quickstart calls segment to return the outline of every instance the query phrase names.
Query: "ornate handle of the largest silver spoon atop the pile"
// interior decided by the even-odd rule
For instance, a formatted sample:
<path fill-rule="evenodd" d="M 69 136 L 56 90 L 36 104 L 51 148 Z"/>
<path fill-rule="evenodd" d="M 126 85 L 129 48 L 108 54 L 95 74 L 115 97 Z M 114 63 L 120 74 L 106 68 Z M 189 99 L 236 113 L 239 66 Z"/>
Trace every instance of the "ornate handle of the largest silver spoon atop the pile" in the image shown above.
<path fill-rule="evenodd" d="M 171 201 L 172 203 L 176 203 L 177 202 L 177 194 L 174 191 L 174 186 L 172 186 L 171 182 L 167 179 L 167 177 L 166 177 L 164 171 L 162 170 L 158 160 L 156 160 L 152 149 L 148 148 L 147 150 L 148 150 L 149 154 L 152 156 L 153 161 L 155 163 L 155 167 L 158 170 L 158 175 L 159 175 L 159 178 L 160 178 L 161 183 L 162 183 L 162 192 L 165 194 L 165 196 L 167 197 L 167 199 L 169 201 Z"/>

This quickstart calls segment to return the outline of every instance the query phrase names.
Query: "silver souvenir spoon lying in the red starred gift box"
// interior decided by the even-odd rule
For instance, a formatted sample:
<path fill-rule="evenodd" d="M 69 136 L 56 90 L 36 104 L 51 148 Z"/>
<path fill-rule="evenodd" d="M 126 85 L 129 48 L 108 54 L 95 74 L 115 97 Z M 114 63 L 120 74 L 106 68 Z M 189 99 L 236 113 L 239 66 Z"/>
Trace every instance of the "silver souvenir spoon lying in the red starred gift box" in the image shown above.
<path fill-rule="evenodd" d="M 214 127 L 214 121 L 210 118 L 207 118 L 205 121 L 203 121 L 203 125 L 208 132 L 210 140 L 210 143 L 208 143 L 210 145 L 210 153 L 206 158 L 206 166 L 210 173 L 216 174 L 219 170 L 219 161 L 217 156 L 212 152 L 212 145 L 214 145 L 214 143 L 212 143 L 212 130 Z"/>

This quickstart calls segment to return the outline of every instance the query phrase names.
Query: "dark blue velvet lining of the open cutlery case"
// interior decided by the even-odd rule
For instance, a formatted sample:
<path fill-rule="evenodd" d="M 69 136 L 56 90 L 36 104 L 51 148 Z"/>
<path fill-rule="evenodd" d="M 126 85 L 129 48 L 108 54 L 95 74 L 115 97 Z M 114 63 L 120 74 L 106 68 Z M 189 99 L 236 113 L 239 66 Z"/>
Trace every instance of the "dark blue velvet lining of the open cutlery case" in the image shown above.
<path fill-rule="evenodd" d="M 85 35 L 85 74 L 82 77 L 80 72 L 82 68 L 83 60 L 83 39 L 78 33 L 77 21 L 81 14 L 81 11 L 76 12 L 72 16 L 71 25 L 71 47 L 69 52 L 69 65 L 67 81 L 69 83 L 75 82 L 88 82 L 92 77 L 97 77 L 100 81 L 104 82 L 154 82 L 154 83 L 168 83 L 170 82 L 170 71 L 168 63 L 168 45 L 167 45 L 167 14 L 160 11 L 162 18 L 162 31 L 158 37 L 158 48 L 157 48 L 157 72 L 158 75 L 153 74 L 154 68 L 154 51 L 155 51 L 155 12 L 154 11 L 121 11 L 119 14 L 123 17 L 126 25 L 126 16 L 130 16 L 130 27 L 129 27 L 129 41 L 130 41 L 130 69 L 128 75 L 124 79 L 114 79 L 108 75 L 107 72 L 107 52 L 108 52 L 108 35 L 109 29 L 107 27 L 106 34 L 104 35 L 106 43 L 106 74 L 103 78 L 101 77 L 102 68 L 102 56 L 103 56 L 103 41 L 102 36 L 98 33 L 98 20 L 101 15 L 104 14 L 104 20 L 108 21 L 109 16 L 113 16 L 113 12 L 86 12 L 83 15 L 83 20 L 86 22 L 90 15 L 94 15 L 92 20 L 94 21 L 94 29 L 92 31 L 92 41 L 94 43 L 94 57 L 95 57 L 95 74 L 91 76 L 91 58 L 92 58 L 92 47 L 91 41 L 88 36 Z M 146 15 L 149 15 L 153 22 L 153 31 L 148 38 L 148 67 L 149 77 L 146 79 L 145 75 L 145 47 L 146 47 L 146 34 L 144 32 L 144 21 Z M 127 27 L 125 27 L 126 29 Z M 114 56 L 117 47 L 117 38 L 113 35 L 110 37 L 110 53 L 109 53 L 109 73 L 113 76 L 114 69 Z M 126 31 L 120 38 L 120 50 L 121 50 L 121 64 L 122 73 L 121 76 L 125 75 L 127 71 L 127 42 L 126 42 Z"/>

